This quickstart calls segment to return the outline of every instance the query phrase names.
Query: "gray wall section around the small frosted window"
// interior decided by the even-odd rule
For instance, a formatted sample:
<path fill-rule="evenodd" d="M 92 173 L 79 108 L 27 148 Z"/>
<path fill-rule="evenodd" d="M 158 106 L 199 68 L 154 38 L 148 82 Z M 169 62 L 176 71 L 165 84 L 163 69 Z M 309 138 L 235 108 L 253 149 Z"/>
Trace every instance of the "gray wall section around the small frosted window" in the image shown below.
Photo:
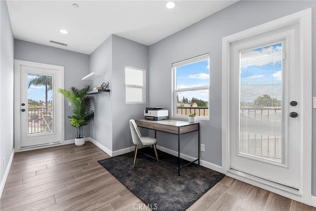
<path fill-rule="evenodd" d="M 128 121 L 144 118 L 147 103 L 125 103 L 125 66 L 146 71 L 145 93 L 148 99 L 148 46 L 113 35 L 112 56 L 113 151 L 115 151 L 133 146 Z"/>

